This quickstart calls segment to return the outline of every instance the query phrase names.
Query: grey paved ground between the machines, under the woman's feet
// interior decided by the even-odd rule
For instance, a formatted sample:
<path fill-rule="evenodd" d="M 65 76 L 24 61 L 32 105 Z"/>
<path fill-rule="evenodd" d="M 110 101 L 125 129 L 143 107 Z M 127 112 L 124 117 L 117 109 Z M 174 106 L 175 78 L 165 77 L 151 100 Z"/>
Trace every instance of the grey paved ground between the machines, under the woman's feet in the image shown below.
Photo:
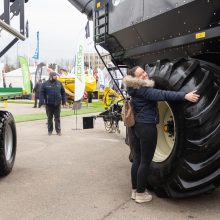
<path fill-rule="evenodd" d="M 62 119 L 63 136 L 46 134 L 45 121 L 17 124 L 13 172 L 0 179 L 1 220 L 217 220 L 220 190 L 185 200 L 130 200 L 130 163 L 122 134 L 108 134 L 101 119 L 94 130 L 73 131 Z"/>

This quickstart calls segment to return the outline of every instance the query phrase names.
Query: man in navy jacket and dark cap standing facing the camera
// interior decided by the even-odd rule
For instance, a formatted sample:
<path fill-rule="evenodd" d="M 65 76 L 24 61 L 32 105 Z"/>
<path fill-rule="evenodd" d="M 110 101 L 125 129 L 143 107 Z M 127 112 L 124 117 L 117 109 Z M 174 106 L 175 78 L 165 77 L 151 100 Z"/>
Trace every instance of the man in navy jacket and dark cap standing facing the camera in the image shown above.
<path fill-rule="evenodd" d="M 51 72 L 49 80 L 42 84 L 40 90 L 40 105 L 46 105 L 48 118 L 48 135 L 52 135 L 54 117 L 57 135 L 61 136 L 61 104 L 66 104 L 65 90 L 62 83 L 57 81 L 57 73 Z"/>

